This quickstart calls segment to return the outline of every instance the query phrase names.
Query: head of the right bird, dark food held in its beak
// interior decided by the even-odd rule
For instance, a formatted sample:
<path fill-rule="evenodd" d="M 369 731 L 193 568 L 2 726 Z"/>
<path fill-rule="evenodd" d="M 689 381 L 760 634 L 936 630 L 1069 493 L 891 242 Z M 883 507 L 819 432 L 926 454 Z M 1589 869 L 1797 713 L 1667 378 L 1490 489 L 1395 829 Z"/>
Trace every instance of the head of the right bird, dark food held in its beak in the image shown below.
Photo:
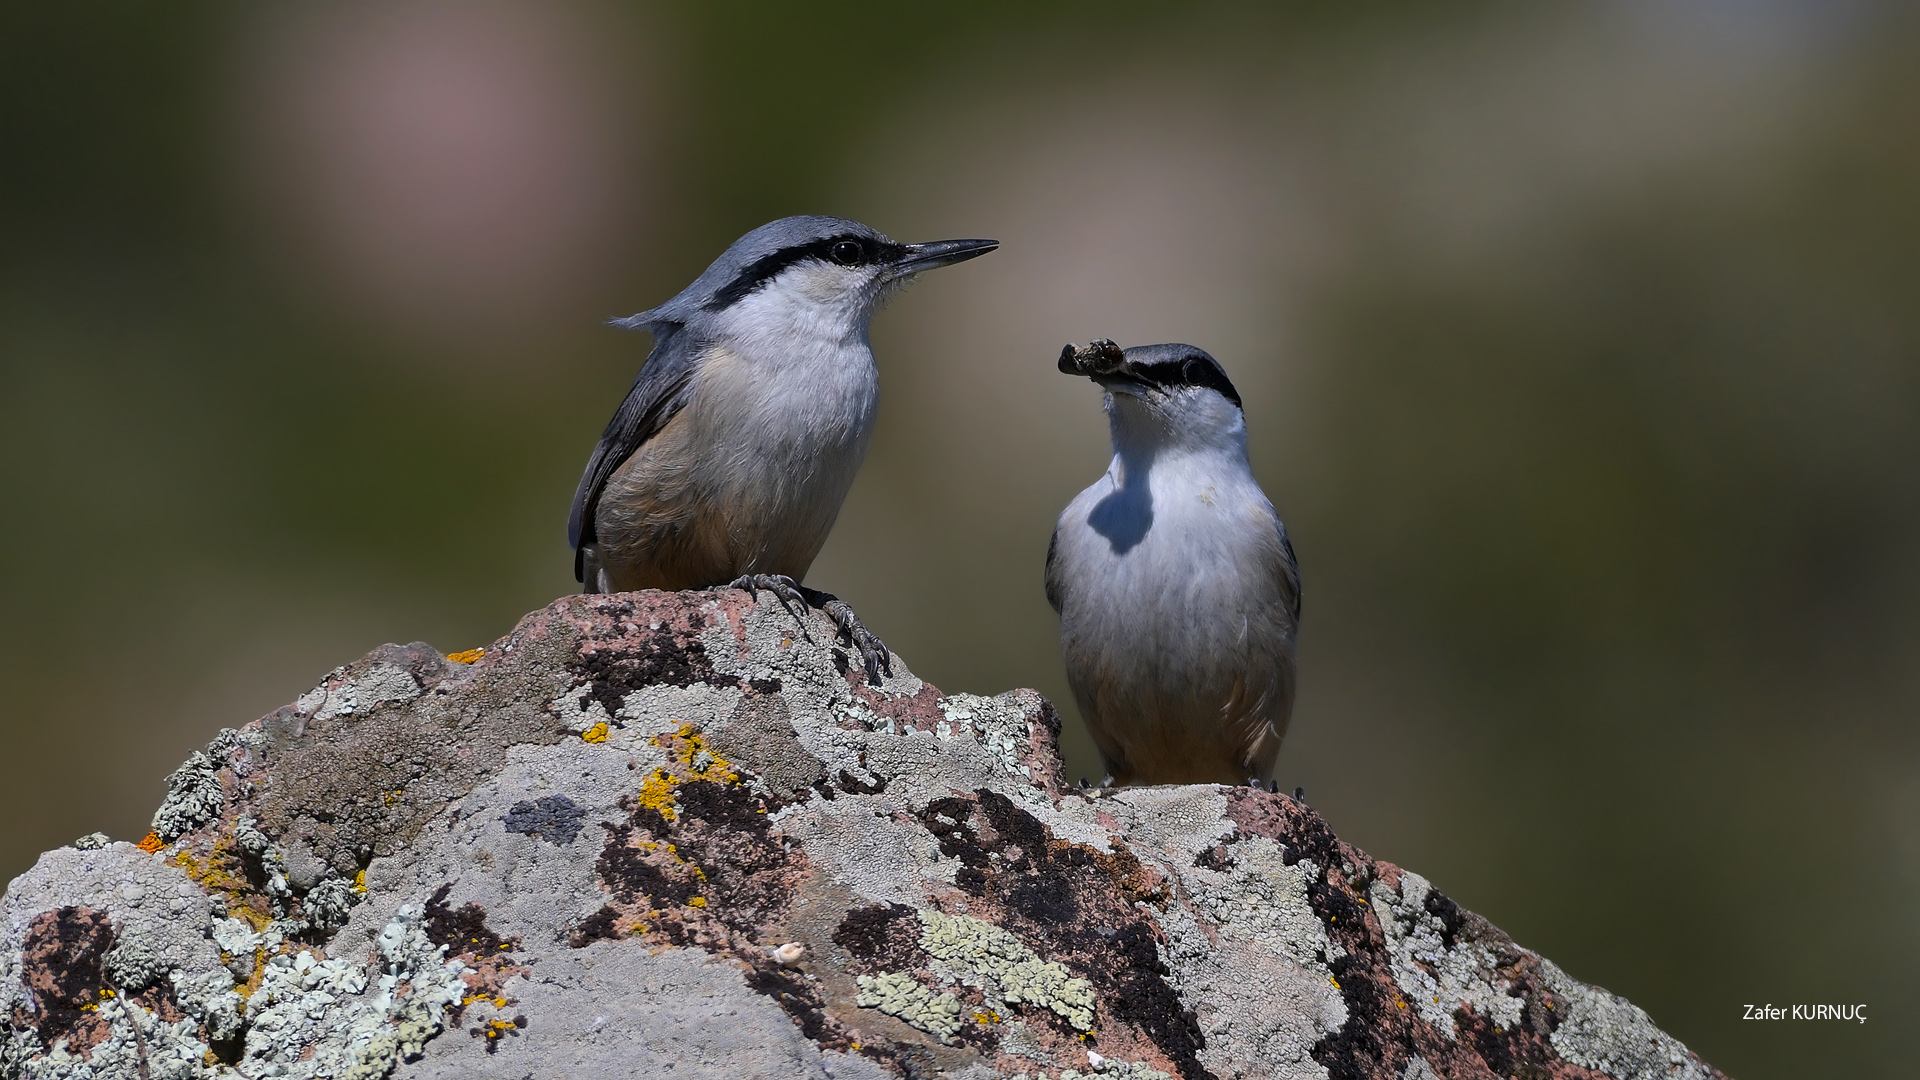
<path fill-rule="evenodd" d="M 1238 444 L 1246 440 L 1240 394 L 1206 350 L 1185 344 L 1119 348 L 1096 338 L 1060 350 L 1060 371 L 1106 390 L 1114 438 L 1158 444 Z"/>

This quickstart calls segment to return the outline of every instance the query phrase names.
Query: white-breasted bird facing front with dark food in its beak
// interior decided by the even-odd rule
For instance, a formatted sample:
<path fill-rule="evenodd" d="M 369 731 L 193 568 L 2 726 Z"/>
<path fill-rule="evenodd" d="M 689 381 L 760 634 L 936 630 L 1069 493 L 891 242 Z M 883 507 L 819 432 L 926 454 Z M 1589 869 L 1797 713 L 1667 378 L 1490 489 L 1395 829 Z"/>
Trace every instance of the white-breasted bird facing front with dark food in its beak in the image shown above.
<path fill-rule="evenodd" d="M 1246 461 L 1240 394 L 1194 346 L 1068 346 L 1114 463 L 1046 548 L 1068 682 L 1108 784 L 1267 786 L 1294 709 L 1300 567 Z"/>

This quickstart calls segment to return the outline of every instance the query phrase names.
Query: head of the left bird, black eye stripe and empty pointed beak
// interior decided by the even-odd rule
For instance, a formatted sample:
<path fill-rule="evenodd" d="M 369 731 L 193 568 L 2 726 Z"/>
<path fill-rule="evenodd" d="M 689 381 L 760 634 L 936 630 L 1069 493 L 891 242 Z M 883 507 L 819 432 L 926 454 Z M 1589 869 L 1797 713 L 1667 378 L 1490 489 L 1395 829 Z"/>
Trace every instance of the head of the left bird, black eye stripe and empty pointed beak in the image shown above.
<path fill-rule="evenodd" d="M 998 240 L 900 244 L 845 217 L 781 217 L 730 246 L 666 304 L 618 327 L 714 323 L 783 332 L 864 332 L 914 275 L 985 256 Z"/>

